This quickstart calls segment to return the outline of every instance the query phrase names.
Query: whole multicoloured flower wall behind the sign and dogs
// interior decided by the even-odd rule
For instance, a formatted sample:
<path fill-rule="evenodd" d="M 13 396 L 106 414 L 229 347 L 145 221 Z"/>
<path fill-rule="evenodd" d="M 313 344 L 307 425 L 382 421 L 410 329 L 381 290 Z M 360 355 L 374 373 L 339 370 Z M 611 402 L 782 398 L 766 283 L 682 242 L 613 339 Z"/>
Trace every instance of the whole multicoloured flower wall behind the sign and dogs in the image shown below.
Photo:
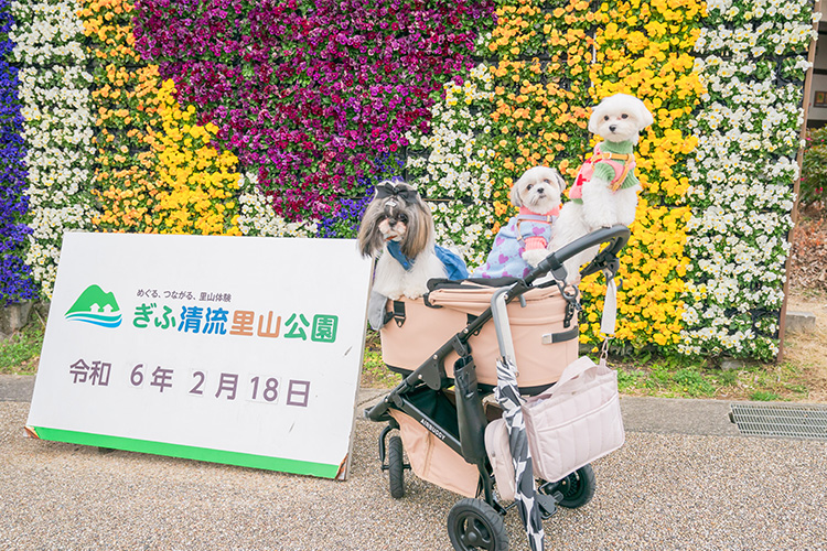
<path fill-rule="evenodd" d="M 7 11 L 17 26 L 2 50 L 13 65 L 2 112 L 18 120 L 4 128 L 28 177 L 9 172 L 26 190 L 3 207 L 0 223 L 17 229 L 2 246 L 25 263 L 3 264 L 2 289 L 24 289 L 31 270 L 47 298 L 66 230 L 353 237 L 373 185 L 393 176 L 418 184 L 439 241 L 475 267 L 515 214 L 513 182 L 547 164 L 571 183 L 595 143 L 589 108 L 622 91 L 655 123 L 636 149 L 643 191 L 615 343 L 777 352 L 808 1 L 51 0 Z M 581 291 L 581 339 L 597 343 L 601 278 Z"/>

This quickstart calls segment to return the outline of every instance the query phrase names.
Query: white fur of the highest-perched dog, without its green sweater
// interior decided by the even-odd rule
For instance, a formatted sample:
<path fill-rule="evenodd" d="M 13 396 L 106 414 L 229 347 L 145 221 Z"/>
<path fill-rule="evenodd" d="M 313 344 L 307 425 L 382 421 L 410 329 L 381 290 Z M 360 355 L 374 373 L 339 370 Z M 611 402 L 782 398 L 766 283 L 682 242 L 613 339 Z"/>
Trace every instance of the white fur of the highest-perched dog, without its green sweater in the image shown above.
<path fill-rule="evenodd" d="M 589 118 L 589 131 L 609 142 L 631 141 L 637 144 L 640 132 L 652 125 L 654 119 L 646 106 L 634 96 L 615 94 L 603 99 L 592 109 Z M 555 231 L 548 250 L 556 251 L 601 227 L 616 224 L 631 225 L 637 208 L 640 185 L 625 190 L 612 191 L 610 182 L 599 177 L 583 184 L 582 204 L 573 201 L 566 203 L 560 217 L 555 224 Z M 580 280 L 580 267 L 591 261 L 598 253 L 598 247 L 574 255 L 565 262 L 567 283 L 574 284 Z"/>

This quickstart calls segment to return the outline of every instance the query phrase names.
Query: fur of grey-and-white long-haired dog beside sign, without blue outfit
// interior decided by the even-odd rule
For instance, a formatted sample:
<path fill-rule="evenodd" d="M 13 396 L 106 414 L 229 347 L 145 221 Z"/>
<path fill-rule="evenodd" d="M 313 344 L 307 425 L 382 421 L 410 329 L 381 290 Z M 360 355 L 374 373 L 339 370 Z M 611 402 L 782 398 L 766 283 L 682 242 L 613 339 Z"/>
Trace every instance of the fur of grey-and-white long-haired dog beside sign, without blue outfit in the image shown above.
<path fill-rule="evenodd" d="M 431 210 L 404 182 L 382 182 L 379 186 L 405 190 L 407 198 L 398 195 L 379 197 L 365 209 L 358 233 L 363 256 L 379 256 L 374 274 L 373 292 L 398 300 L 401 296 L 417 299 L 428 291 L 428 280 L 445 278 L 445 267 L 434 251 L 436 230 Z M 388 251 L 387 241 L 398 241 L 402 255 L 411 260 L 406 270 Z"/>

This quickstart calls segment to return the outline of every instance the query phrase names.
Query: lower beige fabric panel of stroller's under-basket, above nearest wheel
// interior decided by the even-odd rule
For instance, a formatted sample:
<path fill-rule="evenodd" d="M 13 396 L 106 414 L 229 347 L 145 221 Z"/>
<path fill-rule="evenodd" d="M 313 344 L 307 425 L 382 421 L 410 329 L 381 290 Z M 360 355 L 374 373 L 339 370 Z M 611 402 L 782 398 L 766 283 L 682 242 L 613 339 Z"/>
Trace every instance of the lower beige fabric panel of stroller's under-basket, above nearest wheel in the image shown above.
<path fill-rule="evenodd" d="M 399 423 L 410 468 L 418 477 L 461 496 L 476 497 L 480 471 L 475 465 L 466 463 L 462 455 L 411 417 L 394 409 L 388 413 Z"/>

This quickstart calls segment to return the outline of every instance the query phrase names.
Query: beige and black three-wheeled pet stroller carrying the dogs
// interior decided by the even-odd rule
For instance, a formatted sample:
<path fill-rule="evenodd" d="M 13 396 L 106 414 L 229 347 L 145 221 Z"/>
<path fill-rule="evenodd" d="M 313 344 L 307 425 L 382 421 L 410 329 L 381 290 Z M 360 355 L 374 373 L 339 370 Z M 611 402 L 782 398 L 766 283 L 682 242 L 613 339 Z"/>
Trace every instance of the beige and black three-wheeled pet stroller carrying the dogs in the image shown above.
<path fill-rule="evenodd" d="M 394 498 L 405 495 L 406 469 L 465 496 L 448 515 L 454 549 L 506 550 L 503 518 L 514 507 L 531 548 L 541 549 L 543 519 L 557 506 L 591 500 L 589 463 L 558 479 L 535 479 L 519 403 L 554 387 L 578 359 L 579 293 L 566 285 L 562 263 L 598 248 L 581 274 L 602 271 L 613 288 L 616 255 L 629 236 L 625 226 L 601 228 L 550 253 L 523 279 L 431 280 L 421 299 L 388 301 L 383 360 L 402 381 L 365 417 L 388 423 L 379 460 Z"/>

